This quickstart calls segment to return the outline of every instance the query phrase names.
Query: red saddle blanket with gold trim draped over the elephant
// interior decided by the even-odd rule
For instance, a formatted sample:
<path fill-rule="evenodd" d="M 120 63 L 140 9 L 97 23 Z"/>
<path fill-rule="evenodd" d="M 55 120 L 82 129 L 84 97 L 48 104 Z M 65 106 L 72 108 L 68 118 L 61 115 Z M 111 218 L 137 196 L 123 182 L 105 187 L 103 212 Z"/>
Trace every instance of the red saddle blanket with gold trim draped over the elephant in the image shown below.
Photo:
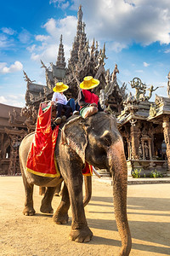
<path fill-rule="evenodd" d="M 51 128 L 51 107 L 44 113 L 42 113 L 40 107 L 37 116 L 37 127 L 26 163 L 28 172 L 43 177 L 60 177 L 54 154 L 58 132 L 59 125 L 54 130 Z M 86 162 L 82 174 L 90 176 L 92 173 L 92 166 L 89 166 Z"/>

